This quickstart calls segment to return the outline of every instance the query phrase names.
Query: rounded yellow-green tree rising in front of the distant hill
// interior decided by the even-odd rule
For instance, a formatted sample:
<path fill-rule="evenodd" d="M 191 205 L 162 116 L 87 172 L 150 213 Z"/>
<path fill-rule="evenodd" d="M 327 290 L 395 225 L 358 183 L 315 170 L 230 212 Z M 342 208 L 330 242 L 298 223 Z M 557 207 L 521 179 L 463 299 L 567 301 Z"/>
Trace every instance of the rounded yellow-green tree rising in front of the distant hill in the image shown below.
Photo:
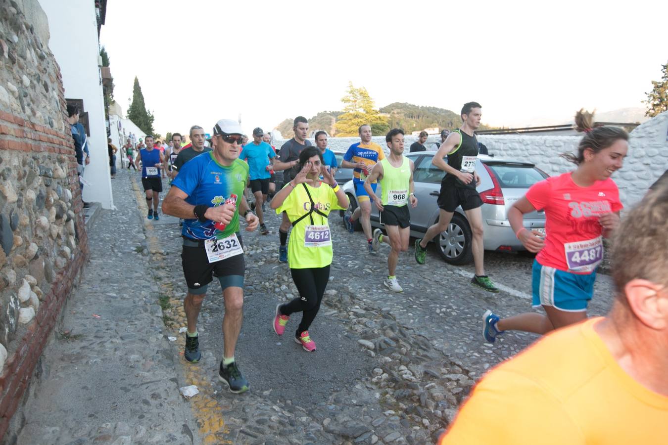
<path fill-rule="evenodd" d="M 355 88 L 348 82 L 347 95 L 341 98 L 343 114 L 335 124 L 337 136 L 357 136 L 360 125 L 370 125 L 371 134 L 384 135 L 389 130 L 387 118 L 382 116 L 365 87 Z"/>

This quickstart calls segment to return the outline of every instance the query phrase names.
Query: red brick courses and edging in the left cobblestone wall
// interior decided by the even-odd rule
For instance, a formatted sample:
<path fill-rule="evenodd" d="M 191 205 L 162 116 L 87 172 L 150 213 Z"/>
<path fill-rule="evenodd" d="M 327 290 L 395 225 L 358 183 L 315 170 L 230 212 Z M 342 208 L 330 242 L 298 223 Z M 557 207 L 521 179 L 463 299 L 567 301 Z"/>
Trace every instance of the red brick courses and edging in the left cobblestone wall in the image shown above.
<path fill-rule="evenodd" d="M 62 89 L 60 91 L 62 108 L 65 109 Z M 65 119 L 63 113 L 63 119 Z M 79 249 L 74 254 L 74 260 L 60 270 L 53 279 L 51 288 L 44 292 L 43 300 L 35 318 L 27 326 L 27 332 L 22 338 L 13 340 L 16 344 L 14 353 L 7 358 L 5 368 L 0 374 L 0 440 L 5 436 L 9 421 L 16 412 L 19 402 L 25 393 L 30 378 L 35 370 L 35 364 L 44 350 L 49 335 L 53 331 L 61 310 L 69 296 L 79 270 L 88 258 L 88 237 L 83 219 L 83 202 L 79 189 L 79 175 L 77 162 L 69 134 L 69 125 L 65 121 L 64 131 L 60 133 L 53 129 L 27 121 L 19 116 L 0 111 L 0 150 L 25 151 L 28 153 L 53 153 L 68 157 L 67 178 L 69 189 L 72 192 L 75 225 L 79 236 Z"/>

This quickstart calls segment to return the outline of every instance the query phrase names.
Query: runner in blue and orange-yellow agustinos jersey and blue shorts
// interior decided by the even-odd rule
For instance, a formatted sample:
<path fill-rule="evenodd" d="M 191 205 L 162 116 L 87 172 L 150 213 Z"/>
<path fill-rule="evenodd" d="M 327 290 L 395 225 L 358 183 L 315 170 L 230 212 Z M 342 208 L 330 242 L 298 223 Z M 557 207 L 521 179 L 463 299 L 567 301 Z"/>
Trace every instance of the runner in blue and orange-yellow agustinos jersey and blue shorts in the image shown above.
<path fill-rule="evenodd" d="M 367 176 L 373 169 L 373 166 L 383 159 L 385 153 L 380 145 L 371 142 L 371 127 L 367 124 L 359 127 L 359 137 L 361 141 L 353 143 L 343 155 L 341 167 L 352 168 L 353 183 L 355 184 L 355 195 L 357 195 L 358 207 L 353 211 L 352 215 L 344 215 L 343 222 L 348 228 L 349 232 L 353 232 L 353 225 L 355 219 L 360 218 L 364 236 L 367 237 L 367 245 L 371 254 L 375 253 L 373 246 L 371 246 L 371 200 L 369 193 L 364 189 L 364 182 Z M 373 181 L 371 188 L 375 192 L 377 183 Z"/>

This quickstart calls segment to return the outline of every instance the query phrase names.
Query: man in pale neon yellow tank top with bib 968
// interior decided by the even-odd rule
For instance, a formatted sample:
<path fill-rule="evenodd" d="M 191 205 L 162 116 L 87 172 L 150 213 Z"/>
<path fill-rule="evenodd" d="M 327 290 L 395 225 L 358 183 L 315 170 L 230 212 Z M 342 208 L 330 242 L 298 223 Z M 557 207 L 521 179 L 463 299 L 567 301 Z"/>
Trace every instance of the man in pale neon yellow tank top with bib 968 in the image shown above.
<path fill-rule="evenodd" d="M 403 130 L 394 128 L 385 136 L 389 148 L 389 157 L 381 159 L 373 166 L 371 174 L 364 183 L 364 189 L 373 197 L 373 203 L 380 212 L 381 223 L 385 224 L 387 236 L 380 229 L 373 231 L 373 249 L 378 250 L 381 243 L 391 246 L 387 256 L 387 280 L 385 287 L 393 292 L 403 292 L 395 275 L 399 253 L 408 250 L 411 232 L 411 207 L 418 205 L 413 186 L 413 161 L 403 155 Z M 382 197 L 375 194 L 372 183 L 380 183 Z"/>

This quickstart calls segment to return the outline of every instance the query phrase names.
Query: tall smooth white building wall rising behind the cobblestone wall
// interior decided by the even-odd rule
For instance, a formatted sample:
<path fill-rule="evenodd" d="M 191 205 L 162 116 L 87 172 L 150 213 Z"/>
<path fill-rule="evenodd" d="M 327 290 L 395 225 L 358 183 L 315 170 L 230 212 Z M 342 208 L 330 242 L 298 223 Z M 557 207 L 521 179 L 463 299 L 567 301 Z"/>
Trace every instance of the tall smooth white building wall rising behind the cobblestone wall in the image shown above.
<path fill-rule="evenodd" d="M 49 20 L 49 48 L 60 65 L 67 99 L 83 99 L 88 112 L 90 164 L 83 178 L 83 200 L 114 207 L 109 173 L 102 78 L 98 57 L 98 22 L 92 0 L 39 0 Z"/>

